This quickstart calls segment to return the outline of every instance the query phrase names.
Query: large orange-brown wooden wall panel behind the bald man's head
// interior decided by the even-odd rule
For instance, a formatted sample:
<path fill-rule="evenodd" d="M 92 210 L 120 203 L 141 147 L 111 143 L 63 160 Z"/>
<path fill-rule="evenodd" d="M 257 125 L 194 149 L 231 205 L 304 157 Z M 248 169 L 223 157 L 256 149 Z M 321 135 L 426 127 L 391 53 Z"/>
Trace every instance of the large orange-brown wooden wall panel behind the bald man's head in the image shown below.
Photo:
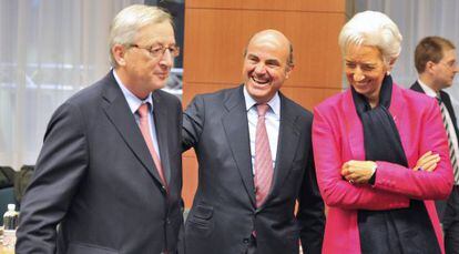
<path fill-rule="evenodd" d="M 186 11 L 185 82 L 241 83 L 243 52 L 251 37 L 277 29 L 294 45 L 295 70 L 285 87 L 341 87 L 338 33 L 344 14 L 277 11 Z"/>

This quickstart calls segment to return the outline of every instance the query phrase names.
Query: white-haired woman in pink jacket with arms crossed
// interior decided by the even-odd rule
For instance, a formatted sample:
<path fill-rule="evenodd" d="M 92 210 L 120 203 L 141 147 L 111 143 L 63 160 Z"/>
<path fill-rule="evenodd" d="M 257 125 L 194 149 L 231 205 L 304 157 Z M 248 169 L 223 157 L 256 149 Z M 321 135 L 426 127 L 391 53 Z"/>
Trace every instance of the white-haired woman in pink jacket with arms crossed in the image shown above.
<path fill-rule="evenodd" d="M 316 106 L 313 124 L 323 253 L 443 253 L 430 200 L 451 191 L 448 141 L 437 102 L 392 82 L 400 42 L 375 11 L 339 34 L 350 89 Z"/>

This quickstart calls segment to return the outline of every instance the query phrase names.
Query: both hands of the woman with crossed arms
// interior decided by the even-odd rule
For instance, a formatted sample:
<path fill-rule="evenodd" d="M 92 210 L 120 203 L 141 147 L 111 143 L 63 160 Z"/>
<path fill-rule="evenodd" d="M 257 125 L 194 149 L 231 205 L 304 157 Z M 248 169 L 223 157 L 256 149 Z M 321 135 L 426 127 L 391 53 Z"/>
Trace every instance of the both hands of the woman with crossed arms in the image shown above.
<path fill-rule="evenodd" d="M 437 163 L 440 161 L 438 154 L 432 154 L 431 151 L 425 153 L 412 167 L 414 171 L 432 172 L 437 167 Z M 349 183 L 366 184 L 375 174 L 377 164 L 374 161 L 356 161 L 350 160 L 343 164 L 341 175 Z"/>

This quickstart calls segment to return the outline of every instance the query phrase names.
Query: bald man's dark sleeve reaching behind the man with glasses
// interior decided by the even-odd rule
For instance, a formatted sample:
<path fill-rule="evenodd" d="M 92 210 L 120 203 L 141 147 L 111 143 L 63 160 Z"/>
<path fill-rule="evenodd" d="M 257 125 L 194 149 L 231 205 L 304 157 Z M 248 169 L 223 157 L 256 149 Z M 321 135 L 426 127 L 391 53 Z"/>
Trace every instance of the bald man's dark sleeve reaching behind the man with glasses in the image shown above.
<path fill-rule="evenodd" d="M 182 151 L 193 148 L 201 138 L 204 126 L 204 100 L 197 95 L 183 112 Z"/>

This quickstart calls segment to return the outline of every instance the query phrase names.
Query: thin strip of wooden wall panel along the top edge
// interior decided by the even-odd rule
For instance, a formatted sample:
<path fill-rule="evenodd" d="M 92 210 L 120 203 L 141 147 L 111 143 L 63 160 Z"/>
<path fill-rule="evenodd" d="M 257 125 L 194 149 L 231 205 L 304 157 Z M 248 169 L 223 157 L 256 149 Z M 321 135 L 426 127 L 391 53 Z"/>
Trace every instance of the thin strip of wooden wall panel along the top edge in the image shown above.
<path fill-rule="evenodd" d="M 344 12 L 343 0 L 186 0 L 186 8 Z"/>

